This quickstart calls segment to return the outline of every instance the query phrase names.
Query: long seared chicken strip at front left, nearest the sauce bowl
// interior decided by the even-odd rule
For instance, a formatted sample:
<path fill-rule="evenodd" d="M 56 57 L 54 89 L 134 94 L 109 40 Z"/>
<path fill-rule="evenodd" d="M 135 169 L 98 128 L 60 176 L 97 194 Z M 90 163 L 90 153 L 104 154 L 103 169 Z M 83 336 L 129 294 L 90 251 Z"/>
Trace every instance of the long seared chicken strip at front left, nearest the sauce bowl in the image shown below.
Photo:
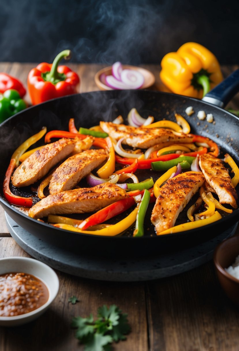
<path fill-rule="evenodd" d="M 32 218 L 42 218 L 48 214 L 93 212 L 126 197 L 128 197 L 126 191 L 118 185 L 103 183 L 92 188 L 49 195 L 30 208 L 28 215 Z"/>

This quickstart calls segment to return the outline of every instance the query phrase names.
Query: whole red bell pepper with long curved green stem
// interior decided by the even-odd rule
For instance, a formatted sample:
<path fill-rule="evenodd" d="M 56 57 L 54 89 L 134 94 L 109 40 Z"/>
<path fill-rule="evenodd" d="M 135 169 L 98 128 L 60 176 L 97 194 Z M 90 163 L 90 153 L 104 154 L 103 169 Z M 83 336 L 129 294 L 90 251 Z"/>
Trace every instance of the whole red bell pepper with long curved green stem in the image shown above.
<path fill-rule="evenodd" d="M 64 50 L 56 56 L 53 64 L 42 62 L 29 72 L 27 86 L 33 105 L 78 92 L 78 75 L 67 66 L 58 66 L 61 59 L 67 60 L 70 55 L 70 50 Z"/>

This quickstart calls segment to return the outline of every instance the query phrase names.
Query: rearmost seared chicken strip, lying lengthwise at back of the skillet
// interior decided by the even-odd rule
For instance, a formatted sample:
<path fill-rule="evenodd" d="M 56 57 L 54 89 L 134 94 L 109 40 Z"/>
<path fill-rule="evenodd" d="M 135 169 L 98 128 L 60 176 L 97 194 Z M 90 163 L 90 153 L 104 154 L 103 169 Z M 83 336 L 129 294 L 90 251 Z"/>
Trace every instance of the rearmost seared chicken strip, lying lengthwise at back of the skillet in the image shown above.
<path fill-rule="evenodd" d="M 123 144 L 147 149 L 158 143 L 192 143 L 190 134 L 176 133 L 166 128 L 136 128 L 112 122 L 100 122 L 104 132 L 111 138 L 124 138 Z"/>

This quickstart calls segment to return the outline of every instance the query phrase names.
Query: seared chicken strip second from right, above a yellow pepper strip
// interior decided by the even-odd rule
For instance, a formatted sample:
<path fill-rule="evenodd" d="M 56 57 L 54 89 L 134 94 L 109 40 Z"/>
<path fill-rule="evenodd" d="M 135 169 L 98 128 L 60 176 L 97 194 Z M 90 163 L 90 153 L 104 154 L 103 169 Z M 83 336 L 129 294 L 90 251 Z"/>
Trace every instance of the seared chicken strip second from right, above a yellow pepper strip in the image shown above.
<path fill-rule="evenodd" d="M 190 171 L 178 174 L 161 187 L 151 215 L 157 234 L 174 226 L 179 213 L 204 181 L 203 173 Z"/>

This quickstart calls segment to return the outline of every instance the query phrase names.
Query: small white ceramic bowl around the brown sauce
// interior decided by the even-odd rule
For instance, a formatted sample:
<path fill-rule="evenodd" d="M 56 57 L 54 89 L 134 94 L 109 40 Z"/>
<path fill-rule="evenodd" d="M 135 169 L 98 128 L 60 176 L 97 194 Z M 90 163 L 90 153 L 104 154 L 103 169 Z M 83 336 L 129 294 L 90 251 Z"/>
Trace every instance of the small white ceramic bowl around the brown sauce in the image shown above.
<path fill-rule="evenodd" d="M 43 312 L 45 312 L 50 304 L 54 301 L 58 290 L 59 290 L 59 279 L 52 268 L 47 266 L 45 263 L 37 261 L 33 258 L 27 257 L 8 257 L 0 259 L 0 274 L 10 273 L 10 272 L 23 272 L 32 274 L 36 278 L 39 278 L 48 288 L 49 298 L 47 302 L 39 307 L 38 309 L 20 314 L 19 316 L 13 317 L 1 317 L 1 326 L 15 326 L 21 325 L 39 317 Z"/>

